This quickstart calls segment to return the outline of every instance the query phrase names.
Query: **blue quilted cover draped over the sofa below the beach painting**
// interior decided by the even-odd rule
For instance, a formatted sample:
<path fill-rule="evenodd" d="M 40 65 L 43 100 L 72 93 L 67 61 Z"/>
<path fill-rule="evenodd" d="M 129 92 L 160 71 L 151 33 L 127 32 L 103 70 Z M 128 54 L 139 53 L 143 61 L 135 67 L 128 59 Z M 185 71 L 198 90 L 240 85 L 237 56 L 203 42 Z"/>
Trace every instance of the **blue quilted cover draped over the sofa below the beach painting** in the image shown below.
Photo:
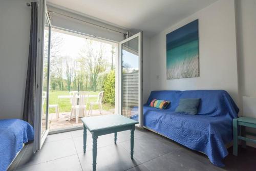
<path fill-rule="evenodd" d="M 166 110 L 148 106 L 153 99 L 168 100 Z M 180 98 L 200 98 L 197 115 L 175 112 Z M 143 108 L 144 126 L 206 154 L 211 163 L 225 166 L 225 144 L 232 141 L 232 119 L 239 109 L 223 90 L 153 91 Z M 136 119 L 136 118 L 134 118 Z"/>

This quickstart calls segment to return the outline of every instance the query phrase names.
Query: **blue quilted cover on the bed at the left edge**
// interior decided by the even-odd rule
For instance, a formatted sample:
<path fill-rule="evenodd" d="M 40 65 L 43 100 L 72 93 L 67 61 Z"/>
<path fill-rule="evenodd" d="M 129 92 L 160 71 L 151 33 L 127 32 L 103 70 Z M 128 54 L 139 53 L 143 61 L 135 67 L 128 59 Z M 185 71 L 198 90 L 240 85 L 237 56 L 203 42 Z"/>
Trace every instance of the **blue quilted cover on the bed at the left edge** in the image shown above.
<path fill-rule="evenodd" d="M 34 129 L 20 119 L 0 120 L 0 170 L 6 170 L 23 144 L 34 139 Z"/>

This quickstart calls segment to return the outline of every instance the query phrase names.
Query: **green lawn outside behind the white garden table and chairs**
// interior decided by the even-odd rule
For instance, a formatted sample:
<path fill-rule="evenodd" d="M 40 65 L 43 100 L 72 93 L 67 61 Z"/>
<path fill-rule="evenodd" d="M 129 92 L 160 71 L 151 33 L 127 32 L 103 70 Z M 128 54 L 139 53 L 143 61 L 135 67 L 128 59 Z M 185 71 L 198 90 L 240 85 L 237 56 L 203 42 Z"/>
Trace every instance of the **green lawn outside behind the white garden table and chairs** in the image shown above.
<path fill-rule="evenodd" d="M 99 91 L 93 92 L 90 91 L 91 95 L 98 95 Z M 70 112 L 71 111 L 71 103 L 70 99 L 68 98 L 58 98 L 60 95 L 69 95 L 69 91 L 50 91 L 49 94 L 49 104 L 58 104 L 59 105 L 59 112 Z M 96 102 L 97 97 L 90 97 L 88 100 L 88 105 L 87 105 L 87 110 L 89 110 L 89 103 L 90 102 Z M 46 108 L 46 104 L 44 105 L 44 108 Z M 103 103 L 102 105 L 103 110 L 110 110 L 114 109 L 115 107 L 108 104 L 108 103 Z M 93 109 L 99 109 L 97 105 L 93 106 Z M 50 109 L 49 113 L 55 113 L 54 109 Z"/>

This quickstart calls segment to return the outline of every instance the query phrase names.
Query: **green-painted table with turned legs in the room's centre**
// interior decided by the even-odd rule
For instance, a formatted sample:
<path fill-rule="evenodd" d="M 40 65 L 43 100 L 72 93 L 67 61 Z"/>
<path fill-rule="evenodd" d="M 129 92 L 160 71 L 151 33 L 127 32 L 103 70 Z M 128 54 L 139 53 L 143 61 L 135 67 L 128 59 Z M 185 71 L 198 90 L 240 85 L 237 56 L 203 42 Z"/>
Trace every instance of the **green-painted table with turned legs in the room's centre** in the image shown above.
<path fill-rule="evenodd" d="M 83 153 L 86 153 L 87 130 L 93 137 L 93 170 L 96 170 L 97 138 L 101 135 L 114 133 L 116 144 L 117 132 L 131 130 L 131 158 L 133 159 L 135 124 L 139 122 L 121 115 L 85 117 L 81 120 L 83 123 Z"/>

